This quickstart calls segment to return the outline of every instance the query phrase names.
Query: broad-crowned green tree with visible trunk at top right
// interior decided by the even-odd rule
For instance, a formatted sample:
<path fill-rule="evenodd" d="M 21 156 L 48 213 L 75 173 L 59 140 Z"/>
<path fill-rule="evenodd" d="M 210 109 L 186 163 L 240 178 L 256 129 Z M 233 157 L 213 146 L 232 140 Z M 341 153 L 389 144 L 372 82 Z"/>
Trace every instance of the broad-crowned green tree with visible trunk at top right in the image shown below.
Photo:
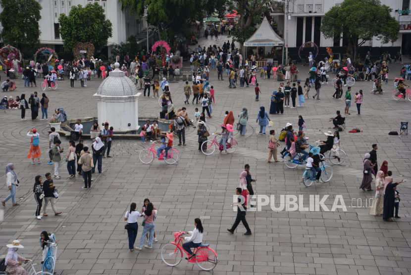
<path fill-rule="evenodd" d="M 324 15 L 321 32 L 325 38 L 338 40 L 344 33 L 352 61 L 356 62 L 358 48 L 373 37 L 383 44 L 397 41 L 400 27 L 391 12 L 392 8 L 381 5 L 379 0 L 345 0 Z"/>

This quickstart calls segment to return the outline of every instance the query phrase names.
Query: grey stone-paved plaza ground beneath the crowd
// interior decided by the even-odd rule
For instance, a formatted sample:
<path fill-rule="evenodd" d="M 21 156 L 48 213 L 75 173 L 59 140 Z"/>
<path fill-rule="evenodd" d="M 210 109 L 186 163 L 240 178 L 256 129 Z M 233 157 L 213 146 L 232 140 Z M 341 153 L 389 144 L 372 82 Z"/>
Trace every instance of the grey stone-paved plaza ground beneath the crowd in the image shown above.
<path fill-rule="evenodd" d="M 219 41 L 201 40 L 200 45 L 222 46 L 228 39 L 219 37 Z M 231 42 L 231 39 L 229 39 Z M 204 45 L 203 45 L 204 44 Z M 194 46 L 193 46 L 194 47 Z M 407 60 L 409 60 L 407 58 Z M 332 165 L 333 178 L 327 183 L 315 183 L 306 187 L 302 183 L 305 167 L 289 169 L 283 163 L 267 163 L 269 130 L 276 131 L 276 137 L 287 122 L 297 128 L 298 116 L 302 115 L 307 128 L 304 129 L 309 143 L 325 140 L 323 132 L 333 131 L 330 117 L 335 117 L 336 110 L 344 111 L 344 100 L 332 97 L 333 75 L 329 84 L 323 84 L 320 90 L 321 100 L 313 100 L 315 93 L 311 89 L 311 99 L 306 99 L 303 107 L 285 108 L 283 115 L 269 115 L 273 128 L 266 129 L 266 136 L 257 135 L 257 113 L 260 106 L 268 112 L 271 93 L 277 90 L 279 82 L 258 78 L 262 92 L 260 100 L 255 101 L 254 87 L 228 89 L 228 78 L 217 80 L 215 69 L 210 71 L 210 85 L 214 87 L 216 104 L 213 105 L 212 118 L 207 126 L 210 133 L 219 131 L 225 111 L 233 111 L 235 118 L 243 107 L 248 108 L 249 124 L 245 137 L 234 131 L 238 149 L 233 154 L 219 154 L 218 150 L 206 156 L 198 151 L 196 129 L 186 129 L 187 146 L 174 148 L 179 152 L 177 165 L 167 165 L 154 160 L 145 165 L 139 160 L 139 152 L 147 148 L 149 142 L 142 144 L 140 139 L 113 139 L 112 158 L 103 159 L 103 173 L 94 174 L 92 188 L 84 190 L 81 176 L 68 179 L 66 163 L 61 161 L 59 173 L 61 179 L 53 178 L 59 190 L 56 208 L 63 212 L 60 216 L 52 215 L 37 220 L 33 184 L 37 175 L 53 173 L 54 166 L 48 165 L 48 130 L 47 121 L 30 120 L 30 111 L 26 112 L 26 121 L 21 121 L 20 110 L 0 112 L 0 156 L 1 171 L 8 163 L 13 163 L 20 185 L 16 198 L 20 206 L 6 203 L 3 221 L 0 223 L 1 250 L 0 258 L 7 253 L 6 244 L 19 239 L 24 248 L 18 253 L 22 257 L 40 264 L 42 250 L 39 243 L 41 231 L 56 234 L 58 252 L 56 262 L 57 275 L 74 274 L 158 274 L 158 275 L 274 275 L 274 274 L 322 274 L 322 275 L 406 275 L 411 274 L 411 183 L 401 183 L 401 219 L 396 222 L 384 222 L 381 216 L 370 216 L 369 210 L 374 192 L 359 189 L 362 180 L 362 157 L 377 143 L 378 163 L 388 161 L 388 170 L 393 172 L 394 182 L 410 179 L 411 133 L 410 135 L 389 136 L 392 130 L 400 132 L 400 122 L 409 121 L 411 102 L 395 101 L 393 79 L 399 77 L 400 64 L 390 64 L 390 80 L 383 84 L 382 95 L 370 93 L 371 82 L 359 82 L 352 86 L 353 95 L 363 91 L 361 115 L 356 115 L 354 100 L 350 108 L 351 115 L 346 117 L 346 129 L 340 132 L 341 149 L 347 153 L 346 162 Z M 308 67 L 298 64 L 299 79 L 302 84 L 308 77 Z M 187 71 L 187 67 L 183 69 Z M 1 74 L 2 81 L 5 75 Z M 65 79 L 58 82 L 55 91 L 46 90 L 50 98 L 49 115 L 58 107 L 63 107 L 70 119 L 97 116 L 97 101 L 93 94 L 97 92 L 101 79 L 88 81 L 86 88 Z M 239 82 L 238 82 L 239 83 Z M 407 83 L 407 82 L 406 82 Z M 16 80 L 18 89 L 14 92 L 1 92 L 4 95 L 26 94 L 40 89 L 25 88 L 23 80 Z M 190 81 L 191 84 L 191 81 Z M 187 107 L 189 116 L 194 117 L 194 108 L 199 105 L 185 105 L 183 81 L 170 82 L 174 107 Z M 238 85 L 239 86 L 239 85 Z M 347 88 L 347 87 L 344 87 Z M 346 89 L 344 89 L 344 92 Z M 141 91 L 142 92 L 142 91 Z M 191 97 L 192 99 L 193 97 Z M 298 99 L 297 99 L 298 100 Z M 190 100 L 191 101 L 191 100 Z M 160 107 L 156 98 L 139 99 L 140 117 L 159 116 Z M 41 112 L 39 112 L 41 114 Z M 101 122 L 100 122 L 101 123 Z M 171 122 L 170 122 L 171 123 Z M 31 165 L 27 159 L 30 139 L 26 136 L 30 129 L 36 128 L 40 134 L 42 164 Z M 362 133 L 348 133 L 353 128 L 363 129 Z M 62 137 L 62 146 L 68 148 L 68 138 Z M 209 138 L 210 139 L 210 138 Z M 92 140 L 85 144 L 91 147 Z M 284 142 L 281 143 L 282 148 Z M 156 145 L 156 148 L 158 145 Z M 64 154 L 64 159 L 65 159 Z M 63 156 L 63 154 L 62 154 Z M 279 156 L 280 157 L 280 156 Z M 253 183 L 258 195 L 275 196 L 275 206 L 279 206 L 280 195 L 303 195 L 298 202 L 309 206 L 310 195 L 322 198 L 328 195 L 324 204 L 331 210 L 337 195 L 341 195 L 347 211 L 338 208 L 334 212 L 286 211 L 275 212 L 270 205 L 261 207 L 261 211 L 248 211 L 246 219 L 252 229 L 252 235 L 243 235 L 244 226 L 230 234 L 227 229 L 234 223 L 236 212 L 230 205 L 233 202 L 235 188 L 239 187 L 239 175 L 244 165 L 251 166 L 250 173 L 257 182 Z M 9 193 L 5 184 L 4 173 L 0 174 L 1 197 Z M 374 187 L 374 180 L 372 186 Z M 375 189 L 375 187 L 374 187 Z M 143 200 L 150 198 L 158 209 L 155 220 L 155 233 L 158 242 L 153 249 L 130 252 L 127 231 L 124 230 L 124 214 L 130 203 L 137 203 L 140 211 Z M 339 203 L 341 204 L 341 203 Z M 288 209 L 290 210 L 290 209 Z M 43 211 L 42 211 L 43 212 Z M 196 264 L 182 260 L 176 267 L 163 263 L 161 247 L 173 240 L 173 233 L 178 230 L 193 230 L 194 219 L 202 220 L 205 233 L 203 243 L 210 244 L 218 255 L 218 264 L 211 272 L 202 271 Z M 139 218 L 139 223 L 142 218 Z M 135 243 L 138 245 L 142 227 Z M 37 266 L 40 269 L 40 266 Z"/>

